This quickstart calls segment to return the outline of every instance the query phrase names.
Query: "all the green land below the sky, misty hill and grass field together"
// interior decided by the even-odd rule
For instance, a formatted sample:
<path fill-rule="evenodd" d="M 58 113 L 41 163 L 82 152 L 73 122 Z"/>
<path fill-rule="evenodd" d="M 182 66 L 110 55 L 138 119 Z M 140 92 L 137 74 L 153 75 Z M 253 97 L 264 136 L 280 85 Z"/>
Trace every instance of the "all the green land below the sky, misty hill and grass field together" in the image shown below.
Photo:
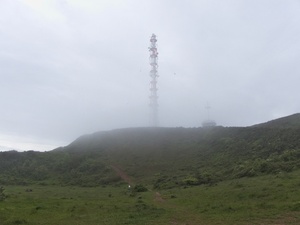
<path fill-rule="evenodd" d="M 299 121 L 121 129 L 0 152 L 0 224 L 299 224 Z"/>

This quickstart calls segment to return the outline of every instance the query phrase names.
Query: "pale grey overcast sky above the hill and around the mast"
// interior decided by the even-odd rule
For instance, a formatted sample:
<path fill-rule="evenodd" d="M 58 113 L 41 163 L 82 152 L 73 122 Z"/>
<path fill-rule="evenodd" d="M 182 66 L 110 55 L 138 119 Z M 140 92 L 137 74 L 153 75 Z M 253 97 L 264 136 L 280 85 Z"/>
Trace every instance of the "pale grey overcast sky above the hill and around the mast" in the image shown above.
<path fill-rule="evenodd" d="M 300 112 L 299 0 L 0 0 L 0 151 L 159 123 L 249 126 Z"/>

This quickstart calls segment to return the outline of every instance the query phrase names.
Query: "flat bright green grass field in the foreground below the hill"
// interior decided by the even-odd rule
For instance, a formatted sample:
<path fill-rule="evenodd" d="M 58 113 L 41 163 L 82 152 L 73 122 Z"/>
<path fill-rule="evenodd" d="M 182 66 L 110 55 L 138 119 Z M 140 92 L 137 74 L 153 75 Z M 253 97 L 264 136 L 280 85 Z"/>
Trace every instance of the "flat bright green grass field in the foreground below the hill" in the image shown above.
<path fill-rule="evenodd" d="M 127 184 L 6 186 L 0 224 L 300 224 L 300 171 L 133 193 Z M 29 190 L 32 191 L 29 191 Z M 26 191 L 27 190 L 27 191 Z"/>

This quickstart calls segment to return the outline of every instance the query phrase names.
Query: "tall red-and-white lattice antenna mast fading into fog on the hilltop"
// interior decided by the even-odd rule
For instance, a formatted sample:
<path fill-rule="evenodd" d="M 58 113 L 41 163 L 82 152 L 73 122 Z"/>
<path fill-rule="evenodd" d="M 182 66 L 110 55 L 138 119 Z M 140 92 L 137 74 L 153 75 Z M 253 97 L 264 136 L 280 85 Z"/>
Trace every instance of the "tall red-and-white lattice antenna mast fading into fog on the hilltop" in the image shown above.
<path fill-rule="evenodd" d="M 157 103 L 157 48 L 156 48 L 156 35 L 152 34 L 151 39 L 150 39 L 150 47 L 149 47 L 149 52 L 150 52 L 150 125 L 152 127 L 157 127 L 158 126 L 158 103 Z"/>

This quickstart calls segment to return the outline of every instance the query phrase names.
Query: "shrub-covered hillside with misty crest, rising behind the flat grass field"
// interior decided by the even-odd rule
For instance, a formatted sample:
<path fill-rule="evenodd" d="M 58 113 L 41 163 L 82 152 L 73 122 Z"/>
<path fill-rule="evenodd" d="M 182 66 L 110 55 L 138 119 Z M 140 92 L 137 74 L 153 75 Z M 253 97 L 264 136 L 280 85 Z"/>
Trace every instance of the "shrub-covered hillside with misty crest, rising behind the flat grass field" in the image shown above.
<path fill-rule="evenodd" d="M 300 114 L 251 127 L 126 128 L 84 135 L 50 152 L 1 152 L 0 183 L 154 188 L 300 168 Z"/>

